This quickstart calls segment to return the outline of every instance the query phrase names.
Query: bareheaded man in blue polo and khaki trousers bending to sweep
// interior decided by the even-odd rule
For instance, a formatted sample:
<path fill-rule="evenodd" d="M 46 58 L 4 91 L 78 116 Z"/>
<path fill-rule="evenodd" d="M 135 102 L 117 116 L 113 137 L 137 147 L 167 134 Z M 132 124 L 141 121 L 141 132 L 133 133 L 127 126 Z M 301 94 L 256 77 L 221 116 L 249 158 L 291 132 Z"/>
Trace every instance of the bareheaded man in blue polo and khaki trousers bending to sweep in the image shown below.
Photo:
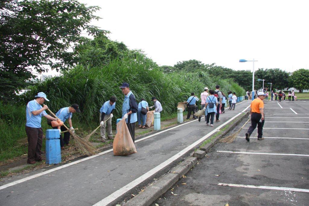
<path fill-rule="evenodd" d="M 116 106 L 116 97 L 111 96 L 111 98 L 109 98 L 109 100 L 106 101 L 100 109 L 101 142 L 106 141 L 106 138 L 105 138 L 106 125 L 107 125 L 107 138 L 110 140 L 113 139 L 112 118 L 113 118 L 113 111 L 115 110 L 115 106 Z M 104 124 L 104 121 L 106 121 L 105 124 Z"/>

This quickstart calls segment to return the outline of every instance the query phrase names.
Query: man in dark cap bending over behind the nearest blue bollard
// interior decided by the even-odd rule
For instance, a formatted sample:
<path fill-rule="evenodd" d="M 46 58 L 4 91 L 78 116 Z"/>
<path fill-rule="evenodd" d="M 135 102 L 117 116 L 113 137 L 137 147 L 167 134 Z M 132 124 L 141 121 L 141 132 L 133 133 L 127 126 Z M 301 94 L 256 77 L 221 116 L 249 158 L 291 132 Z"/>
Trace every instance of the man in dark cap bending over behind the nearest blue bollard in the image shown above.
<path fill-rule="evenodd" d="M 80 113 L 78 104 L 72 104 L 71 107 L 63 107 L 59 111 L 57 111 L 56 116 L 60 119 L 60 121 L 65 122 L 68 120 L 70 129 L 74 129 L 72 126 L 72 115 L 73 113 Z M 52 126 L 51 121 L 47 121 L 47 124 L 49 126 Z M 57 129 L 58 127 L 53 127 L 53 129 Z M 67 131 L 67 129 L 64 126 L 60 127 L 60 130 L 62 132 Z M 75 132 L 74 130 L 72 131 Z M 60 134 L 60 148 L 64 149 L 64 145 L 69 145 L 70 141 L 70 132 L 64 132 L 64 137 L 62 138 L 62 135 Z"/>

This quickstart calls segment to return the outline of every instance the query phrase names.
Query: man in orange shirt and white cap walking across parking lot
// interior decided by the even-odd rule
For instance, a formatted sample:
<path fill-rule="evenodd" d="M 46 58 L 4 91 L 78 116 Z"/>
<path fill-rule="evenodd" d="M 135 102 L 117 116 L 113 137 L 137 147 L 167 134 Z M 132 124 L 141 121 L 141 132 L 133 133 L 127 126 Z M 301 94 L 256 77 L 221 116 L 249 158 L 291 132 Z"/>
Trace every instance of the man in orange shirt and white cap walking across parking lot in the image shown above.
<path fill-rule="evenodd" d="M 265 94 L 260 91 L 257 94 L 257 98 L 254 99 L 250 105 L 250 115 L 251 115 L 251 126 L 246 133 L 246 140 L 250 141 L 250 135 L 256 128 L 257 124 L 257 139 L 264 140 L 263 126 L 264 126 L 264 100 Z"/>

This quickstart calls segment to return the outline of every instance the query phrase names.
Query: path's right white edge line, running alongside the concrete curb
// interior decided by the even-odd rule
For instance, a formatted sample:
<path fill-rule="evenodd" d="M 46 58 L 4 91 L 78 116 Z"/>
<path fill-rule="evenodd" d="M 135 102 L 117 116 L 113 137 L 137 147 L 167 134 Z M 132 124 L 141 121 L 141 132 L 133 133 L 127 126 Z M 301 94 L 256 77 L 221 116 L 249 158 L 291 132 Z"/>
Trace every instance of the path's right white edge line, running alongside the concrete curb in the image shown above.
<path fill-rule="evenodd" d="M 250 107 L 250 105 L 248 107 L 246 107 L 242 112 L 246 111 L 248 108 Z M 132 189 L 133 187 L 135 187 L 136 185 L 142 183 L 144 180 L 146 180 L 147 178 L 149 178 L 150 176 L 152 176 L 153 174 L 155 174 L 156 172 L 160 171 L 162 168 L 164 168 L 165 166 L 169 165 L 171 162 L 173 162 L 174 160 L 178 159 L 179 157 L 181 157 L 184 153 L 188 152 L 190 149 L 192 149 L 193 147 L 195 147 L 197 144 L 199 144 L 201 141 L 204 141 L 206 138 L 210 137 L 213 133 L 217 132 L 220 128 L 222 128 L 223 126 L 225 126 L 226 124 L 230 123 L 232 120 L 234 120 L 237 116 L 239 116 L 240 114 L 242 114 L 242 112 L 239 112 L 237 115 L 235 115 L 234 117 L 232 117 L 231 119 L 229 119 L 228 121 L 226 121 L 225 123 L 221 124 L 220 126 L 218 126 L 216 129 L 214 129 L 213 131 L 209 132 L 208 134 L 206 134 L 204 137 L 202 137 L 201 139 L 195 141 L 193 144 L 189 145 L 188 147 L 186 147 L 185 149 L 181 150 L 179 153 L 177 153 L 176 155 L 174 155 L 173 157 L 167 159 L 166 161 L 162 162 L 161 164 L 159 164 L 158 166 L 156 166 L 155 168 L 149 170 L 148 172 L 146 172 L 145 174 L 143 174 L 142 176 L 140 176 L 139 178 L 133 180 L 132 182 L 130 182 L 129 184 L 125 185 L 124 187 L 120 188 L 119 190 L 116 190 L 115 192 L 113 192 L 112 194 L 108 195 L 107 197 L 105 197 L 103 200 L 97 202 L 96 204 L 94 204 L 94 206 L 105 206 L 107 204 L 109 204 L 110 202 L 116 200 L 116 198 L 118 198 L 120 195 L 124 194 L 125 192 L 129 191 L 130 189 Z"/>

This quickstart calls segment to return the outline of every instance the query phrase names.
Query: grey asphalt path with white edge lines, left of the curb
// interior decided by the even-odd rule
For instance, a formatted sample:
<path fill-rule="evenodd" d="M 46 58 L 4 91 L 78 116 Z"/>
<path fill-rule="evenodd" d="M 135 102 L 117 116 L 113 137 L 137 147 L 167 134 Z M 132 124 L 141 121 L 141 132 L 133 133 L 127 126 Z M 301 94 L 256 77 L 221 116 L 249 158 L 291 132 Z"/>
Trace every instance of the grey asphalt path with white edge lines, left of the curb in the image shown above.
<path fill-rule="evenodd" d="M 102 200 L 100 204 L 105 205 L 111 201 L 121 201 L 124 196 L 120 195 L 125 192 L 127 195 L 136 194 L 136 185 L 146 185 L 152 178 L 166 173 L 193 151 L 193 143 L 197 145 L 202 141 L 201 137 L 235 117 L 248 105 L 249 101 L 244 101 L 236 105 L 235 111 L 222 114 L 221 121 L 215 122 L 214 127 L 206 127 L 202 119 L 201 122 L 192 121 L 166 132 L 147 136 L 149 138 L 136 141 L 136 154 L 120 157 L 107 150 L 98 156 L 81 159 L 79 163 L 62 165 L 59 167 L 61 169 L 54 167 L 55 171 L 36 170 L 12 177 L 1 182 L 0 204 L 93 205 Z M 192 149 L 181 153 L 190 145 Z M 36 176 L 33 178 L 32 175 Z M 19 183 L 19 180 L 24 181 Z M 7 185 L 9 183 L 12 185 Z"/>

